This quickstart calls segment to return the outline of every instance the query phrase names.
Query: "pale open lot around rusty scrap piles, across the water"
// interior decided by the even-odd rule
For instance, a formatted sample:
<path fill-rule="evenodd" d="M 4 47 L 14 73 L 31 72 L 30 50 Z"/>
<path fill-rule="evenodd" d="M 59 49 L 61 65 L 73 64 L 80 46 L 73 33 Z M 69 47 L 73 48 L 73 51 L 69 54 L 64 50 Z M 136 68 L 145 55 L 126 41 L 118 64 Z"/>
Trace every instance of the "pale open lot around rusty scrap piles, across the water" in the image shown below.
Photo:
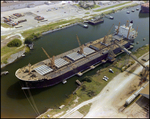
<path fill-rule="evenodd" d="M 33 8 L 23 8 L 18 10 L 6 11 L 1 14 L 1 22 L 4 22 L 3 17 L 9 17 L 14 13 L 24 14 L 22 17 L 17 17 L 16 19 L 11 19 L 13 22 L 18 22 L 19 20 L 26 19 L 26 22 L 19 23 L 14 29 L 5 29 L 1 31 L 2 35 L 12 34 L 13 32 L 20 32 L 26 29 L 31 29 L 34 27 L 46 25 L 50 22 L 56 22 L 57 20 L 67 19 L 70 16 L 78 15 L 81 9 L 78 7 L 67 4 L 54 4 L 54 5 L 40 5 Z M 83 12 L 83 10 L 81 11 Z M 35 20 L 36 16 L 44 17 L 43 21 Z M 7 32 L 6 32 L 7 31 Z"/>

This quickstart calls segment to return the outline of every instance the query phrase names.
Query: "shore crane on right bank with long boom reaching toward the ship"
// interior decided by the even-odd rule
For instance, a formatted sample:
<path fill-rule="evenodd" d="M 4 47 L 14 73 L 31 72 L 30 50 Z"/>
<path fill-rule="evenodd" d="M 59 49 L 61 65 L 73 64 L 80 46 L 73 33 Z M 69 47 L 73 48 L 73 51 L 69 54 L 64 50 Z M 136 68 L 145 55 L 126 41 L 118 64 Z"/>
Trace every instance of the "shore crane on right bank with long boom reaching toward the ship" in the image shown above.
<path fill-rule="evenodd" d="M 125 51 L 129 56 L 131 56 L 136 62 L 138 62 L 144 70 L 142 71 L 143 79 L 146 79 L 147 75 L 149 74 L 149 67 L 143 65 L 134 55 L 131 54 L 130 51 L 128 51 L 124 46 L 119 45 L 118 43 L 115 42 L 115 40 L 112 40 L 116 45 L 118 45 L 123 51 Z"/>

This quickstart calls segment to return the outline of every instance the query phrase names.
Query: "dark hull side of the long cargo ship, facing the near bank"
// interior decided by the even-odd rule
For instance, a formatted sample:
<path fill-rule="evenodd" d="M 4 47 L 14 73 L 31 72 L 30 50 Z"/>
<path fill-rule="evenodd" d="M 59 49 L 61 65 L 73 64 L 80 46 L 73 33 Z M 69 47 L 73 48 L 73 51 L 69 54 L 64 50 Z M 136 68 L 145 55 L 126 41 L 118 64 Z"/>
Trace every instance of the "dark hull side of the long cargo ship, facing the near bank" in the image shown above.
<path fill-rule="evenodd" d="M 124 45 L 125 48 L 129 48 L 131 45 L 130 42 L 126 43 Z M 116 48 L 114 50 L 114 53 L 115 54 L 118 54 L 121 52 L 121 48 Z M 35 88 L 45 88 L 45 87 L 50 87 L 50 86 L 54 86 L 60 82 L 62 82 L 63 80 L 66 80 L 68 78 L 71 78 L 73 77 L 74 75 L 76 75 L 78 72 L 82 72 L 84 70 L 87 70 L 90 68 L 91 65 L 95 65 L 95 64 L 98 64 L 100 63 L 102 60 L 106 60 L 107 59 L 107 56 L 108 56 L 108 53 L 80 66 L 80 67 L 77 67 L 63 75 L 60 75 L 59 77 L 56 77 L 56 78 L 53 78 L 53 79 L 50 79 L 50 80 L 47 80 L 47 79 L 43 79 L 43 80 L 39 80 L 39 81 L 23 81 L 23 80 L 20 80 L 21 83 L 22 83 L 22 87 L 27 87 L 29 89 L 35 89 Z"/>

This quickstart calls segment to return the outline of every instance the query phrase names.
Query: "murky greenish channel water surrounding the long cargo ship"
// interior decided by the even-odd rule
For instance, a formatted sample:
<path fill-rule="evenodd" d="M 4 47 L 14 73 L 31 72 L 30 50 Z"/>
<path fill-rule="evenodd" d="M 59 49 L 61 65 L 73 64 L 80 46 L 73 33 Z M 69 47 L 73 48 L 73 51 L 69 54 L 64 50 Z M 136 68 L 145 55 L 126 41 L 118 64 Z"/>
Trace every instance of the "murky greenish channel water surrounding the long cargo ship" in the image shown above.
<path fill-rule="evenodd" d="M 73 48 L 78 47 L 76 34 L 78 35 L 82 44 L 104 37 L 112 24 L 120 25 L 126 24 L 126 21 L 133 20 L 133 28 L 138 26 L 138 36 L 135 39 L 135 44 L 132 51 L 137 48 L 149 44 L 149 14 L 139 13 L 136 8 L 140 9 L 140 6 L 124 9 L 116 13 L 111 14 L 114 17 L 113 20 L 104 18 L 104 22 L 95 26 L 88 25 L 88 28 L 83 28 L 79 25 L 71 26 L 69 28 L 59 30 L 50 34 L 43 35 L 40 39 L 34 42 L 34 50 L 27 53 L 25 57 L 22 57 L 14 63 L 4 67 L 1 71 L 9 71 L 9 74 L 1 76 L 1 117 L 2 118 L 27 118 L 37 117 L 28 99 L 26 98 L 19 83 L 19 79 L 15 77 L 15 71 L 25 65 L 35 64 L 41 60 L 47 58 L 43 52 L 43 47 L 47 53 L 52 57 L 58 55 Z M 131 11 L 126 14 L 126 11 Z M 111 33 L 114 32 L 112 29 Z M 145 38 L 145 41 L 143 41 Z M 86 75 L 93 75 L 100 68 L 97 67 L 92 71 L 87 72 L 82 77 L 74 76 L 67 80 L 66 84 L 58 84 L 53 87 L 43 89 L 30 90 L 40 113 L 45 112 L 49 108 L 58 108 L 63 104 L 68 95 L 70 95 L 77 87 L 75 80 L 81 80 Z M 27 92 L 27 91 L 25 91 Z M 30 96 L 31 97 L 31 96 Z"/>

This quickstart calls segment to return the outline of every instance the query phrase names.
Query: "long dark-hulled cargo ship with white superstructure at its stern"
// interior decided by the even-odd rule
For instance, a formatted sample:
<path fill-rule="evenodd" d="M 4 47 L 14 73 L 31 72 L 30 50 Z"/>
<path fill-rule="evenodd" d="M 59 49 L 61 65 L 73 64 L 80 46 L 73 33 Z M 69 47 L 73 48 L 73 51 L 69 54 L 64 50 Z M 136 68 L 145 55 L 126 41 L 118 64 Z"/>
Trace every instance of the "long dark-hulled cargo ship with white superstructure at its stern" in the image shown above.
<path fill-rule="evenodd" d="M 132 48 L 131 42 L 137 36 L 137 31 L 132 28 L 132 25 L 133 21 L 128 26 L 120 26 L 119 23 L 113 34 L 84 45 L 79 43 L 80 47 L 52 58 L 42 48 L 48 59 L 19 68 L 15 76 L 21 81 L 22 89 L 50 87 L 75 75 L 82 76 L 84 71 L 92 70 L 106 61 L 113 61 L 115 57 L 110 55 L 112 52 L 115 56 L 123 52 L 120 47 L 112 44 L 112 39 L 127 49 Z M 78 37 L 77 40 L 79 42 Z"/>

